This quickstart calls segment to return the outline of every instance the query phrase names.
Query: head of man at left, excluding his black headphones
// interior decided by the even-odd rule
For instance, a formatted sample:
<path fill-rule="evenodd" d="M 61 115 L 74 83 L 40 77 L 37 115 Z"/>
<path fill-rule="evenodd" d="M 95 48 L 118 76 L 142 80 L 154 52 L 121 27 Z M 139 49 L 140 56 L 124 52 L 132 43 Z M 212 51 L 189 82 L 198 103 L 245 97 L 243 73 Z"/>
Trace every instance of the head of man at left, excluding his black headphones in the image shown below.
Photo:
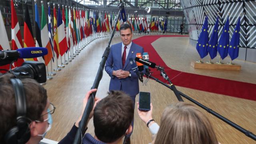
<path fill-rule="evenodd" d="M 12 74 L 0 76 L 0 143 L 5 143 L 6 133 L 17 125 L 17 111 Z M 26 96 L 26 120 L 30 129 L 29 143 L 39 143 L 42 135 L 48 130 L 48 111 L 50 102 L 47 93 L 36 80 L 21 80 Z"/>

